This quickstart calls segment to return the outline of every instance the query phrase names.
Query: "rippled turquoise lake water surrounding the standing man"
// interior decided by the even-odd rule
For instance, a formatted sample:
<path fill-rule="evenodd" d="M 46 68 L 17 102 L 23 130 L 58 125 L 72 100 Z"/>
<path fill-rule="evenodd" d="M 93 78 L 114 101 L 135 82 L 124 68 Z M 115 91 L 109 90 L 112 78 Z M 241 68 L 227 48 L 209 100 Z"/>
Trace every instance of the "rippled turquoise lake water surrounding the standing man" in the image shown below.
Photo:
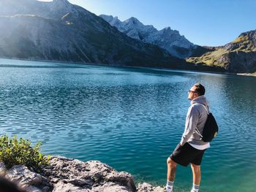
<path fill-rule="evenodd" d="M 197 81 L 219 123 L 200 191 L 256 191 L 256 77 L 0 59 L 0 133 L 165 185 Z M 176 191 L 191 185 L 178 167 Z"/>

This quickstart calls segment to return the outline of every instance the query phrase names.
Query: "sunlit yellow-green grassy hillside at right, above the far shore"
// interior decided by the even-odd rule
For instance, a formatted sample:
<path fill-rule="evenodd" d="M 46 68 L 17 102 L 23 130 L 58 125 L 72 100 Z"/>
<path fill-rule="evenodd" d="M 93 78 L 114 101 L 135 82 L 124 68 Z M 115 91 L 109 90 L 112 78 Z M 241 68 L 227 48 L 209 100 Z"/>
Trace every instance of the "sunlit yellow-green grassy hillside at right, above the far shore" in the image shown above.
<path fill-rule="evenodd" d="M 216 47 L 199 57 L 187 58 L 193 64 L 219 66 L 227 72 L 256 72 L 256 30 L 239 35 L 233 42 Z"/>

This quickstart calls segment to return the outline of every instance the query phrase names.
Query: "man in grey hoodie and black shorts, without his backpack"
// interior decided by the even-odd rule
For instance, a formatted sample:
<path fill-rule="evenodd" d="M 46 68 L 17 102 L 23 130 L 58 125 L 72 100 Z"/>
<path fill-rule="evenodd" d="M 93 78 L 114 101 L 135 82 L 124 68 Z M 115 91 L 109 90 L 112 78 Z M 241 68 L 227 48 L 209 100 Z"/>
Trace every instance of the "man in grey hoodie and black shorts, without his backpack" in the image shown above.
<path fill-rule="evenodd" d="M 203 127 L 208 116 L 206 111 L 208 110 L 208 102 L 204 96 L 205 92 L 203 85 L 198 82 L 189 90 L 188 99 L 191 100 L 191 106 L 187 112 L 184 134 L 181 137 L 181 142 L 179 142 L 170 157 L 167 158 L 167 192 L 173 191 L 177 164 L 181 166 L 191 164 L 193 173 L 191 192 L 198 192 L 199 190 L 201 180 L 200 164 L 203 153 L 210 147 L 209 142 L 201 140 Z"/>

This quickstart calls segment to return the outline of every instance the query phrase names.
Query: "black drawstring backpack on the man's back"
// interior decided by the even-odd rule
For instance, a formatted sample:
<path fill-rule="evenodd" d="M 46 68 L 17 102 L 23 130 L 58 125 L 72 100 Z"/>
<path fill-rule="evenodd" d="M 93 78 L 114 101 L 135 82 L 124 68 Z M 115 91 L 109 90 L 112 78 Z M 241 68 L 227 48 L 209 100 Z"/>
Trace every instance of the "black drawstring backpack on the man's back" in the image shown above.
<path fill-rule="evenodd" d="M 203 104 L 202 104 L 203 105 Z M 206 107 L 203 105 L 203 107 L 206 109 Z M 203 140 L 203 142 L 211 142 L 212 139 L 214 139 L 214 137 L 217 136 L 217 133 L 219 131 L 219 127 L 217 125 L 217 122 L 214 118 L 214 115 L 212 115 L 211 112 L 208 112 L 208 110 L 206 109 L 206 112 L 208 114 L 207 120 L 206 120 L 206 124 L 203 127 L 203 134 L 200 134 L 200 132 L 197 129 L 198 134 L 201 137 L 201 140 Z"/>

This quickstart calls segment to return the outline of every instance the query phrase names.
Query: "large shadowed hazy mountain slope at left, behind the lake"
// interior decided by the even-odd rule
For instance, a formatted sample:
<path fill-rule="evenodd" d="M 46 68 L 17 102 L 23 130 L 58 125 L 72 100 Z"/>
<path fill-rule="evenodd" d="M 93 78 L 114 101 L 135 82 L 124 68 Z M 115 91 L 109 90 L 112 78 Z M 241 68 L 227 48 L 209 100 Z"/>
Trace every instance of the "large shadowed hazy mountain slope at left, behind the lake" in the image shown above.
<path fill-rule="evenodd" d="M 127 37 L 67 0 L 0 1 L 0 57 L 187 69 L 156 45 Z"/>

